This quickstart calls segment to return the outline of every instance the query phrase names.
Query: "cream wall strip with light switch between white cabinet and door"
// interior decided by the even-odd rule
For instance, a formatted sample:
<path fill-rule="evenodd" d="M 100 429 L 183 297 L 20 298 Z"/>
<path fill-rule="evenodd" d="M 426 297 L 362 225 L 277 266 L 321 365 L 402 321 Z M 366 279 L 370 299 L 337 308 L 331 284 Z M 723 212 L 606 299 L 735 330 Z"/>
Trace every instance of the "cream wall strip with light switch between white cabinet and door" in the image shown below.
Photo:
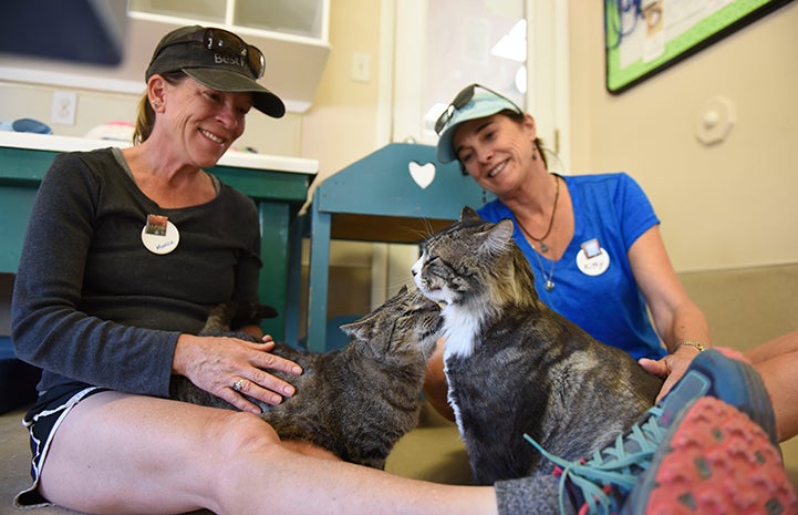
<path fill-rule="evenodd" d="M 301 154 L 319 159 L 315 186 L 339 169 L 374 152 L 377 143 L 380 8 L 374 0 L 330 3 L 332 51 L 311 109 L 302 121 Z M 352 79 L 353 54 L 369 55 L 367 82 Z M 357 192 L 352 192 L 356 195 Z M 372 253 L 370 244 L 330 244 L 328 317 L 364 315 L 371 310 Z M 308 250 L 304 265 L 308 262 Z M 303 267 L 304 268 L 304 267 Z M 303 276 L 304 280 L 304 276 Z M 304 315 L 302 302 L 300 313 Z M 300 328 L 300 336 L 304 327 Z"/>

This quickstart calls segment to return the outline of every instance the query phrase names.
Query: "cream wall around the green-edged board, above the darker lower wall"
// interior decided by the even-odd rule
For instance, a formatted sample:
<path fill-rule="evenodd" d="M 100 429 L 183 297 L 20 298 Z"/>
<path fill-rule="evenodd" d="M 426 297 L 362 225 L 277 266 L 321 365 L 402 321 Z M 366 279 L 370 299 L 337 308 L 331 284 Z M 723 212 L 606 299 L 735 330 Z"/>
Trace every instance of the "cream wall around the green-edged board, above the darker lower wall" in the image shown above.
<path fill-rule="evenodd" d="M 632 174 L 680 271 L 798 262 L 798 2 L 618 96 L 602 2 L 569 7 L 573 172 Z M 694 127 L 717 95 L 737 123 L 707 147 Z"/>

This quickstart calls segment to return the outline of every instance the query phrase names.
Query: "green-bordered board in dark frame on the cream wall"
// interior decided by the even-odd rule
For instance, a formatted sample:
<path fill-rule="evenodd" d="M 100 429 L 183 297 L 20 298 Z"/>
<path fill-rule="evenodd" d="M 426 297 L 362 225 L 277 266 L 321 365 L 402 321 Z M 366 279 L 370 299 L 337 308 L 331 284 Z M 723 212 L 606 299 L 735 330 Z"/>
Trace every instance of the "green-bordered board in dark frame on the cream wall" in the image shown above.
<path fill-rule="evenodd" d="M 619 94 L 792 0 L 604 0 L 607 90 Z"/>

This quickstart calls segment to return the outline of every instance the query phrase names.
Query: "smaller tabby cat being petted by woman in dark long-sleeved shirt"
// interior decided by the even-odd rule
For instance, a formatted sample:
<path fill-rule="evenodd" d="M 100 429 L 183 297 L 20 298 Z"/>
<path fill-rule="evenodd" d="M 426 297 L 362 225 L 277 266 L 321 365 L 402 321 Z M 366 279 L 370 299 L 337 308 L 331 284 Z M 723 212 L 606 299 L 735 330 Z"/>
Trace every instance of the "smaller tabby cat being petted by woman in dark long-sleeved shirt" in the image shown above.
<path fill-rule="evenodd" d="M 252 340 L 242 332 L 231 333 L 230 320 L 269 316 L 269 309 L 220 305 L 200 334 Z M 301 375 L 272 372 L 293 384 L 297 393 L 277 406 L 250 400 L 281 439 L 309 441 L 344 461 L 383 468 L 396 441 L 418 423 L 422 384 L 442 325 L 439 315 L 435 302 L 415 288 L 403 288 L 370 315 L 341 326 L 350 336 L 342 349 L 310 353 L 277 346 L 274 354 L 303 369 Z M 234 409 L 182 375 L 173 377 L 170 394 L 180 401 Z"/>

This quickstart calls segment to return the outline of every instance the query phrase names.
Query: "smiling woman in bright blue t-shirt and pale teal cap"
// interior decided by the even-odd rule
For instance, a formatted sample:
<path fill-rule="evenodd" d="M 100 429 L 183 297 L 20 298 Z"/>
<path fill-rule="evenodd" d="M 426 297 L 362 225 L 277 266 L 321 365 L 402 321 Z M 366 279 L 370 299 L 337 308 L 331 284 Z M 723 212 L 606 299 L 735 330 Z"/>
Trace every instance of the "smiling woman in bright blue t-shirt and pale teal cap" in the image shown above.
<path fill-rule="evenodd" d="M 458 161 L 464 173 L 496 194 L 479 215 L 515 223 L 514 239 L 535 270 L 540 298 L 593 338 L 666 377 L 662 398 L 709 347 L 709 329 L 671 265 L 660 220 L 641 187 L 624 173 L 549 173 L 535 119 L 479 84 L 457 94 L 435 130 L 438 159 Z M 789 401 L 798 395 L 798 382 L 784 377 L 798 363 L 798 331 L 749 358 L 771 385 L 779 437 L 798 434 Z"/>

